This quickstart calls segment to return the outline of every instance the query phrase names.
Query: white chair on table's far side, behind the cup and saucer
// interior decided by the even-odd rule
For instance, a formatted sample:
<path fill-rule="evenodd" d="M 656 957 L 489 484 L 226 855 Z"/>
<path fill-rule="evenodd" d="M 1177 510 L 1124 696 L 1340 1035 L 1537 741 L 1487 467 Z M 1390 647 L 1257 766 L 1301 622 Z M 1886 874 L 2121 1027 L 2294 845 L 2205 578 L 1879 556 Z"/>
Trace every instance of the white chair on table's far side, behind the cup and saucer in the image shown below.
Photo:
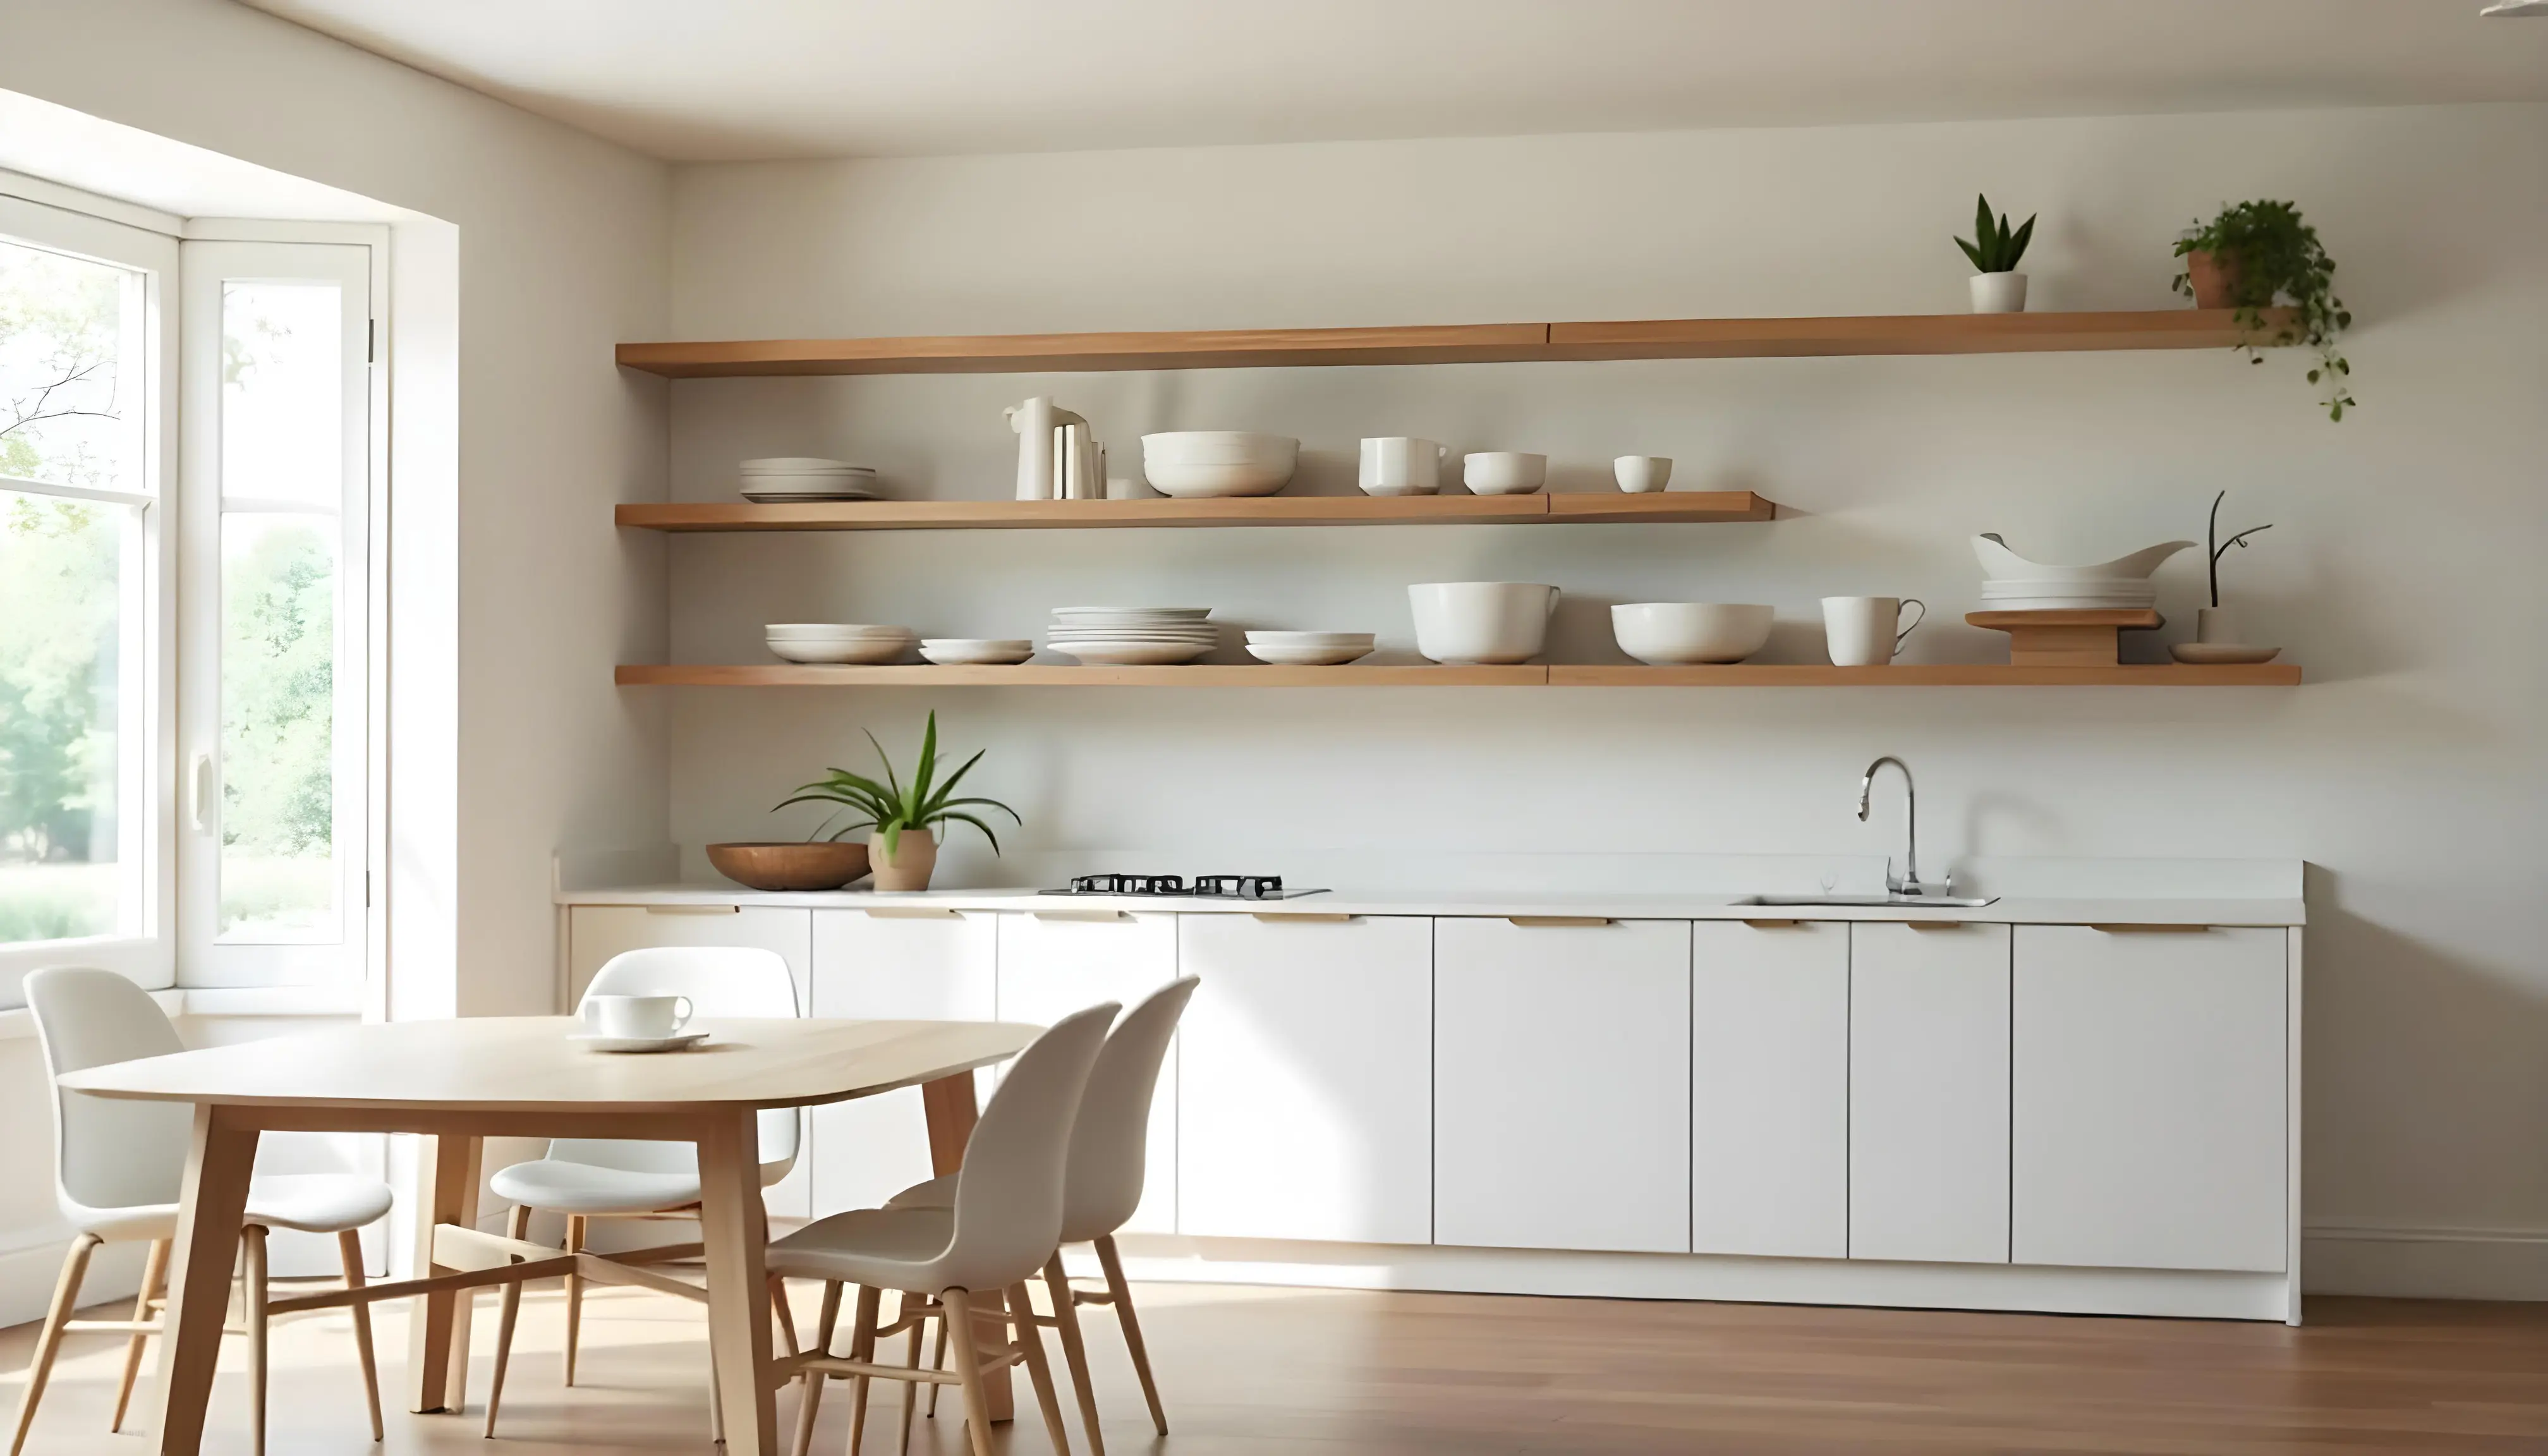
<path fill-rule="evenodd" d="M 759 946 L 647 946 L 612 956 L 583 987 L 576 1002 L 594 997 L 691 997 L 691 1012 L 703 1017 L 795 1017 L 803 1015 L 795 974 L 787 959 Z M 762 1188 L 795 1168 L 803 1114 L 769 1109 L 759 1114 Z M 693 1216 L 698 1209 L 698 1147 L 693 1142 L 634 1142 L 622 1137 L 558 1137 L 545 1158 L 499 1168 L 487 1188 L 512 1204 L 507 1234 L 530 1232 L 530 1214 L 566 1214 L 566 1252 L 583 1249 L 591 1219 Z M 780 1295 L 785 1308 L 785 1295 Z M 505 1364 L 512 1357 L 512 1326 L 522 1311 L 522 1285 L 505 1285 L 505 1306 L 494 1336 L 494 1377 L 487 1387 L 487 1436 L 494 1436 L 497 1405 L 505 1400 Z M 566 1275 L 566 1385 L 576 1382 L 576 1341 L 583 1326 L 583 1280 Z M 792 1321 L 782 1313 L 782 1329 Z M 711 1392 L 711 1415 L 719 1410 Z M 724 1436 L 719 1436 L 724 1438 Z"/>

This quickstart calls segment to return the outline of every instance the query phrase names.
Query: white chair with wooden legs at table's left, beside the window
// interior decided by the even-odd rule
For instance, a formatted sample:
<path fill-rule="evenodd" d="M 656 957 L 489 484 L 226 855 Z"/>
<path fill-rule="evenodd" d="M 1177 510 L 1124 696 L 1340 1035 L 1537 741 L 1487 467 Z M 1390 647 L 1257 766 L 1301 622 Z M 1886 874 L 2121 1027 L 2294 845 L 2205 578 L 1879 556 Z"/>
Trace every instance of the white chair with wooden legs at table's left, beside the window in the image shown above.
<path fill-rule="evenodd" d="M 194 1114 L 181 1102 L 122 1102 L 64 1091 L 59 1079 L 92 1066 L 112 1066 L 143 1056 L 186 1051 L 168 1012 L 115 972 L 46 969 L 25 979 L 25 1005 L 36 1012 L 43 1040 L 43 1066 L 54 1081 L 54 1198 L 79 1234 L 61 1265 L 54 1306 L 36 1336 L 36 1362 L 25 1372 L 25 1402 L 18 1408 L 18 1433 L 10 1456 L 25 1448 L 43 1400 L 54 1357 L 66 1334 L 122 1334 L 125 1372 L 115 1387 L 110 1431 L 122 1431 L 132 1382 L 140 1374 L 143 1344 L 161 1334 L 166 1300 L 158 1288 L 168 1272 L 168 1244 L 176 1239 L 178 1198 L 186 1155 L 194 1142 Z M 283 1173 L 252 1178 L 247 1216 L 240 1229 L 247 1285 L 247 1410 L 255 1451 L 265 1451 L 265 1237 L 268 1229 L 336 1234 L 344 1283 L 362 1288 L 362 1239 L 357 1229 L 390 1211 L 390 1186 L 354 1173 Z M 143 1260 L 143 1288 L 130 1321 L 74 1321 L 79 1283 L 99 1244 L 150 1242 Z M 362 1390 L 372 1405 L 372 1441 L 380 1425 L 380 1372 L 372 1364 L 372 1306 L 347 1306 L 354 1316 L 354 1354 L 362 1359 Z"/>

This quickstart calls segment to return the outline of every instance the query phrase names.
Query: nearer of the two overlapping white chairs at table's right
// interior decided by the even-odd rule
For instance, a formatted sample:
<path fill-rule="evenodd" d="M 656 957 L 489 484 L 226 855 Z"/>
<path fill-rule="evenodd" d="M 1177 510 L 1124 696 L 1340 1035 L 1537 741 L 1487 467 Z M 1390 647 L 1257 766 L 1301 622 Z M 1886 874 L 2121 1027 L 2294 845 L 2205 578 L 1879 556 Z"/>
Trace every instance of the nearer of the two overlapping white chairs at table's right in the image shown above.
<path fill-rule="evenodd" d="M 851 1380 L 848 1446 L 859 1448 L 866 1425 L 866 1382 L 902 1380 L 912 1385 L 953 1382 L 963 1392 L 966 1428 L 973 1456 L 991 1456 L 991 1408 L 984 1374 L 1024 1364 L 1034 1382 L 1034 1402 L 1045 1413 L 1052 1448 L 1070 1456 L 1063 1433 L 1063 1405 L 1045 1364 L 1045 1339 L 1037 1334 L 1027 1280 L 1052 1255 L 1063 1232 L 1063 1178 L 1070 1163 L 1070 1125 L 1078 1119 L 1088 1068 L 1106 1043 L 1106 1023 L 1116 1005 L 1073 1012 L 1017 1053 L 991 1104 L 984 1107 L 963 1165 L 950 1176 L 953 1196 L 943 1209 L 859 1209 L 815 1219 L 769 1244 L 769 1272 L 823 1280 L 823 1316 L 810 1354 L 782 1362 L 803 1374 L 795 1453 L 813 1446 L 813 1423 L 823 1387 Z M 841 1285 L 859 1285 L 848 1354 L 831 1354 L 841 1318 Z M 897 1290 L 902 1303 L 894 1323 L 877 1329 L 882 1293 Z M 973 1295 L 994 1300 L 973 1303 Z M 920 1295 L 920 1298 L 915 1298 Z M 1001 1303 L 1004 1300 L 1004 1303 Z M 956 1339 L 956 1374 L 920 1369 L 920 1321 L 938 1316 L 963 1329 Z M 1001 1344 L 981 1349 L 978 1336 L 996 1326 Z M 1017 1331 L 1009 1339 L 1009 1329 Z M 877 1364 L 877 1341 L 910 1331 L 907 1364 Z M 986 1359 L 989 1357 L 989 1359 Z M 915 1390 L 917 1395 L 917 1390 Z M 910 1397 L 905 1397 L 905 1413 Z M 910 1415 L 905 1415 L 910 1438 Z"/>

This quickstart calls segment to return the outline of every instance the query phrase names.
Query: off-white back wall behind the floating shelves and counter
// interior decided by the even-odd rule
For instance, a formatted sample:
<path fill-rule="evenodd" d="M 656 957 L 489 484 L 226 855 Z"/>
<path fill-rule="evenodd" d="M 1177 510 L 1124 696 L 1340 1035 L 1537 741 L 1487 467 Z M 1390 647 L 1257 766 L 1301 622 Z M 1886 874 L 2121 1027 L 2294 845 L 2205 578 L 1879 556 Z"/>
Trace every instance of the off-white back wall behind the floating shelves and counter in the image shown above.
<path fill-rule="evenodd" d="M 2308 1221 L 2321 1285 L 2548 1295 L 2548 107 L 1368 143 L 675 173 L 678 337 L 961 334 L 1954 311 L 1972 194 L 2041 209 L 2038 309 L 2163 309 L 2168 242 L 2224 199 L 2298 199 L 2359 316 L 2362 408 L 2227 352 L 703 380 L 673 388 L 673 495 L 752 454 L 866 459 L 905 492 L 1006 495 L 999 405 L 1052 393 L 1126 462 L 1149 428 L 1305 441 L 1350 490 L 1363 433 L 1623 451 L 1796 515 L 1720 528 L 696 535 L 673 660 L 767 660 L 769 620 L 1029 635 L 1060 602 L 1376 627 L 1406 581 L 1567 589 L 1557 655 L 1615 660 L 1605 602 L 1756 599 L 1771 658 L 1814 599 L 1936 607 L 1914 660 L 1990 658 L 1965 538 L 2092 561 L 2273 520 L 2227 564 L 2298 691 L 683 691 L 673 834 L 762 811 L 859 727 L 938 709 L 1032 849 L 1164 870 L 1287 852 L 1865 852 L 1875 752 L 1921 773 L 1931 854 L 2306 857 Z M 2179 637 L 2201 569 L 2163 574 Z M 2148 650 L 2148 648 L 2140 648 Z M 999 882 L 978 852 L 953 870 Z M 2438 1242 L 2393 1242 L 2398 1234 Z M 2528 1239 L 2528 1242 L 2525 1242 Z M 2410 1257 L 2400 1257 L 2410 1255 Z"/>

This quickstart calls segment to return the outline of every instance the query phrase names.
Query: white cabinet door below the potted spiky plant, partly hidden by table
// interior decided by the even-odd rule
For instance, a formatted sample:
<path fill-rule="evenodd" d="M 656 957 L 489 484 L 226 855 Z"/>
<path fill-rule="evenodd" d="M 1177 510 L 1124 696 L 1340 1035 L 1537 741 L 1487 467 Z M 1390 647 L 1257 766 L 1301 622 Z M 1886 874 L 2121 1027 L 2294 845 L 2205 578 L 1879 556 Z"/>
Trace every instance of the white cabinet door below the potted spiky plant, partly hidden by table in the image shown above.
<path fill-rule="evenodd" d="M 999 1020 L 994 915 L 927 918 L 813 910 L 813 1015 L 856 1020 Z M 976 1096 L 989 1096 L 976 1074 Z M 933 1178 L 920 1089 L 813 1109 L 813 1214 L 874 1209 Z"/>

